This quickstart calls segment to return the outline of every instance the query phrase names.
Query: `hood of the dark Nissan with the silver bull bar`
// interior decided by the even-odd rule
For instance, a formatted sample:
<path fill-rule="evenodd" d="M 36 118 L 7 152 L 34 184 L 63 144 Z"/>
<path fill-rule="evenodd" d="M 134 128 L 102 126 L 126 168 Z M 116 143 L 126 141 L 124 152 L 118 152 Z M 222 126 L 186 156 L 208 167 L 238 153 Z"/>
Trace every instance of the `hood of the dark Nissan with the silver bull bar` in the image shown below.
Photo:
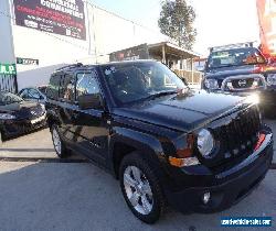
<path fill-rule="evenodd" d="M 223 67 L 216 69 L 210 69 L 205 73 L 206 78 L 216 78 L 223 79 L 229 76 L 237 76 L 237 75 L 251 75 L 256 70 L 255 65 L 246 65 L 238 67 Z"/>

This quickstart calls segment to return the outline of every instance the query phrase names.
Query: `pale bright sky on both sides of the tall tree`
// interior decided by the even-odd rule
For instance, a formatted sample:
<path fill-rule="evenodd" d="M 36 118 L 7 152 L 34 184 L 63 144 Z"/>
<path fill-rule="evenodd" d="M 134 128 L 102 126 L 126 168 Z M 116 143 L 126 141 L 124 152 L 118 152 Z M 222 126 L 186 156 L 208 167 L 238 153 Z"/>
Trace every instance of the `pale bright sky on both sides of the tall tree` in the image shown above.
<path fill-rule="evenodd" d="M 91 0 L 126 19 L 158 29 L 161 0 Z M 208 47 L 258 40 L 256 0 L 188 0 L 197 13 L 198 37 L 193 50 L 208 54 Z"/>

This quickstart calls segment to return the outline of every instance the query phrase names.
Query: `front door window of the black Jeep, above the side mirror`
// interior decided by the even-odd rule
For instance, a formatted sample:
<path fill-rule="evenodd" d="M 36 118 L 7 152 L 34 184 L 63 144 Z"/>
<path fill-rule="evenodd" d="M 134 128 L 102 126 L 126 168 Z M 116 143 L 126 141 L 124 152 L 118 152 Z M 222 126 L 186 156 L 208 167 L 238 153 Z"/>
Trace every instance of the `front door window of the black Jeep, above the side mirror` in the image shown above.
<path fill-rule="evenodd" d="M 76 75 L 76 97 L 89 94 L 99 94 L 98 82 L 93 73 L 82 73 Z"/>

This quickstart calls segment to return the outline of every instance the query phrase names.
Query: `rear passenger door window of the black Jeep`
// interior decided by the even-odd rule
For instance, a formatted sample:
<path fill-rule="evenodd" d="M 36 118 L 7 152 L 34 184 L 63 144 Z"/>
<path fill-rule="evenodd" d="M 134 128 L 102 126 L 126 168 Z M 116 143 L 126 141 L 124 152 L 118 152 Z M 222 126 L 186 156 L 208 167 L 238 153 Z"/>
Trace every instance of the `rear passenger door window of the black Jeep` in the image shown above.
<path fill-rule="evenodd" d="M 75 101 L 75 80 L 73 75 L 66 74 L 61 80 L 60 98 Z"/>

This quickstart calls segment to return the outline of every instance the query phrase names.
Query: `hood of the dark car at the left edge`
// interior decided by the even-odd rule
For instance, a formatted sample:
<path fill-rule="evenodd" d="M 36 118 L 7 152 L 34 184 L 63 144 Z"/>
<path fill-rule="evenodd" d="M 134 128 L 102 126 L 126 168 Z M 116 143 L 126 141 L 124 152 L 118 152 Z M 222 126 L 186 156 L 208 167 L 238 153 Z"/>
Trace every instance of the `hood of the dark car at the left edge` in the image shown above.
<path fill-rule="evenodd" d="M 0 113 L 11 113 L 18 119 L 25 119 L 43 114 L 44 109 L 38 102 L 21 101 L 0 106 Z"/>

